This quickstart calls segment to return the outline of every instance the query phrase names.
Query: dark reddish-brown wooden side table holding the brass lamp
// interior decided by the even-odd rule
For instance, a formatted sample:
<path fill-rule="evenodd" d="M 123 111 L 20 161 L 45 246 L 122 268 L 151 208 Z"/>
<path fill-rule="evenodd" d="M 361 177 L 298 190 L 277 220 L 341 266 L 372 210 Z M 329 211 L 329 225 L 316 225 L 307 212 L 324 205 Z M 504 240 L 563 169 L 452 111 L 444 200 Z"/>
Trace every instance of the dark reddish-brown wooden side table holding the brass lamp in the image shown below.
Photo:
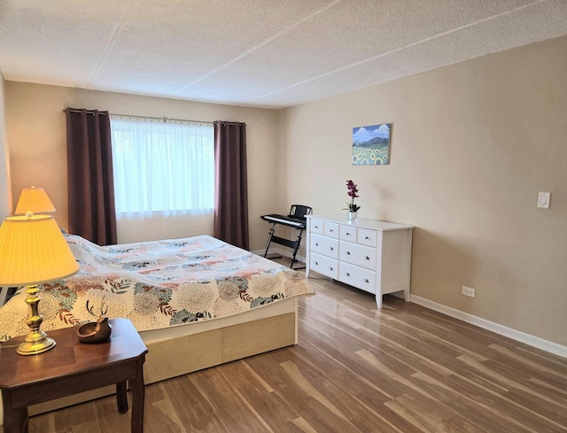
<path fill-rule="evenodd" d="M 27 433 L 27 406 L 116 383 L 120 414 L 128 412 L 127 381 L 132 391 L 132 433 L 144 431 L 144 361 L 148 350 L 128 319 L 113 319 L 110 339 L 82 344 L 76 327 L 49 331 L 57 345 L 49 352 L 22 356 L 12 338 L 0 351 L 0 389 L 4 432 Z"/>

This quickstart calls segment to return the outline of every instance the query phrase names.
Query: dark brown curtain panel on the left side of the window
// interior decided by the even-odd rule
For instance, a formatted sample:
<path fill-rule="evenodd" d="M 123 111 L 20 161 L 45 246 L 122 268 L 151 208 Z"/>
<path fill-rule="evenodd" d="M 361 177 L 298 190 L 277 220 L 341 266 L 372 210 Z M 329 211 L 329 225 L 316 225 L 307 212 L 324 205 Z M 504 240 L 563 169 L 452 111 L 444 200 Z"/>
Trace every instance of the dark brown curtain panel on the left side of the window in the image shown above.
<path fill-rule="evenodd" d="M 66 109 L 69 232 L 116 244 L 113 153 L 108 112 Z"/>

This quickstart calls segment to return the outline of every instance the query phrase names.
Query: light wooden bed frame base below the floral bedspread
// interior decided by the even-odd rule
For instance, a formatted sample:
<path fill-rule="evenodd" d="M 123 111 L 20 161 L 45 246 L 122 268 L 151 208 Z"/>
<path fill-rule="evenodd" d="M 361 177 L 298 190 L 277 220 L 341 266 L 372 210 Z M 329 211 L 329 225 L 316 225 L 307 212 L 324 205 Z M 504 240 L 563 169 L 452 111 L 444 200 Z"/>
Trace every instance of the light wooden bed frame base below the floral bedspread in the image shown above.
<path fill-rule="evenodd" d="M 297 344 L 298 298 L 286 298 L 211 321 L 140 332 L 149 351 L 144 364 L 144 383 L 159 382 Z M 28 414 L 43 414 L 115 392 L 115 386 L 107 386 L 58 398 L 28 407 Z M 1 410 L 2 406 L 0 425 L 4 421 Z"/>

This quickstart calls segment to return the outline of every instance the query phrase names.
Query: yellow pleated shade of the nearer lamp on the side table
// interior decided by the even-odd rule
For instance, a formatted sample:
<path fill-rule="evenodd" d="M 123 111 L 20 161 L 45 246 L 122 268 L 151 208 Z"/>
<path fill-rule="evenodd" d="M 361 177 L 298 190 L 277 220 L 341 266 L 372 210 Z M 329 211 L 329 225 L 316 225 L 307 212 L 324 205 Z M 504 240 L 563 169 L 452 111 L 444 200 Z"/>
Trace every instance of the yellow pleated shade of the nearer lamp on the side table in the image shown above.
<path fill-rule="evenodd" d="M 78 270 L 73 252 L 52 216 L 14 216 L 2 223 L 0 286 L 50 282 Z"/>

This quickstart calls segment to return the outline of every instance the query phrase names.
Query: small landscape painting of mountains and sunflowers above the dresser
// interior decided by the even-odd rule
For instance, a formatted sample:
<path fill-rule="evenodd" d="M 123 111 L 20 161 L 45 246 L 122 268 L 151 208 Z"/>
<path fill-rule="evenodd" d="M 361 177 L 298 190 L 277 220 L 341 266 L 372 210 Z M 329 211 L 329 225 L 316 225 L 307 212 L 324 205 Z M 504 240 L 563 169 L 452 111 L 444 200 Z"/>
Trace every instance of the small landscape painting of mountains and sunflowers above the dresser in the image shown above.
<path fill-rule="evenodd" d="M 353 166 L 390 164 L 392 123 L 353 128 Z"/>

